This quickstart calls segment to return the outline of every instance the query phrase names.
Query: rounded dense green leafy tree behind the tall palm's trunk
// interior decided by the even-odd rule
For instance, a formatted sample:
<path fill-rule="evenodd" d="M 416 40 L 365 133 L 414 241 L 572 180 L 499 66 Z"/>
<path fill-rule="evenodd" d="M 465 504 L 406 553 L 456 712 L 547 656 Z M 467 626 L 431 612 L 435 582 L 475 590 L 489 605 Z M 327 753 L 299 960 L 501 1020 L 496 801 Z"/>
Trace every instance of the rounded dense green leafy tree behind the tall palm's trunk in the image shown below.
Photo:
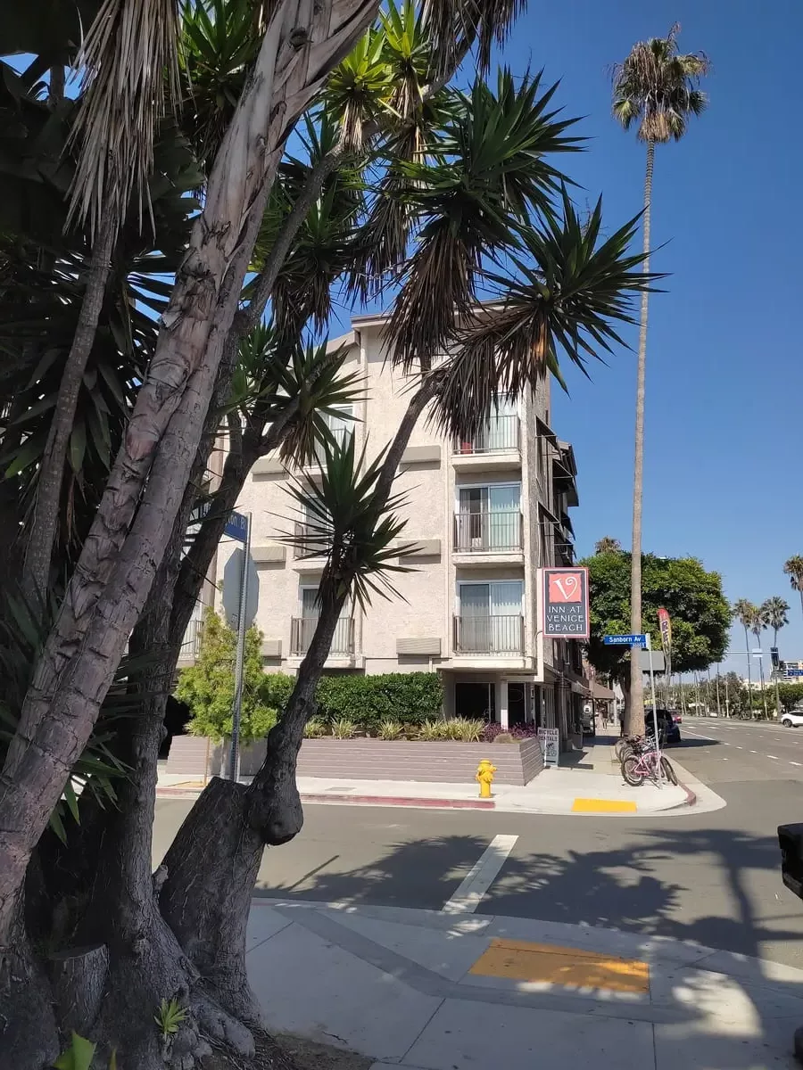
<path fill-rule="evenodd" d="M 580 564 L 589 569 L 591 639 L 588 658 L 597 672 L 619 681 L 628 700 L 628 652 L 606 646 L 603 637 L 627 632 L 630 626 L 630 554 L 597 553 Z M 672 620 L 672 668 L 679 672 L 707 669 L 722 660 L 727 648 L 729 610 L 722 578 L 707 571 L 695 557 L 645 554 L 641 563 L 643 618 L 654 649 L 661 649 L 657 612 Z"/>

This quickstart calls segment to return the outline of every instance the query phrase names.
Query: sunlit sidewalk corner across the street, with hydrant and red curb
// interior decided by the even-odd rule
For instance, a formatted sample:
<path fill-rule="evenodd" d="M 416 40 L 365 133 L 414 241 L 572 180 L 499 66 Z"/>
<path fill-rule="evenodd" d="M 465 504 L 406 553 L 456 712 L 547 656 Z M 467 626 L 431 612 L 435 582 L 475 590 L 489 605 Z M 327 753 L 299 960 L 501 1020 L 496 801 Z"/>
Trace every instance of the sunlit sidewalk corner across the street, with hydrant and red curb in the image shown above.
<path fill-rule="evenodd" d="M 613 756 L 612 736 L 588 740 L 582 751 L 561 755 L 561 766 L 544 769 L 525 788 L 494 784 L 491 799 L 480 799 L 475 783 L 426 783 L 410 780 L 345 780 L 299 777 L 302 802 L 363 806 L 407 806 L 423 809 L 476 809 L 505 813 L 595 814 L 634 816 L 683 815 L 694 807 L 704 813 L 725 806 L 711 789 L 696 780 L 668 751 L 680 785 L 646 782 L 631 788 Z M 493 761 L 494 746 L 488 746 Z M 160 774 L 161 797 L 193 796 L 200 781 Z"/>

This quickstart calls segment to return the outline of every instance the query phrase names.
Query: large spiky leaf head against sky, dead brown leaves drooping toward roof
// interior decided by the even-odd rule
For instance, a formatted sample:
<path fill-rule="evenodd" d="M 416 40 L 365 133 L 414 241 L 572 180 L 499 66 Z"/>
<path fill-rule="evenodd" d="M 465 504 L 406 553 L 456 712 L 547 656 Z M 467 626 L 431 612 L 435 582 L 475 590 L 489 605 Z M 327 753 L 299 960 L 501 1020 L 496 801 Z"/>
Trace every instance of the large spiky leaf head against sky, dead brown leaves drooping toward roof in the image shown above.
<path fill-rule="evenodd" d="M 528 216 L 549 213 L 563 175 L 544 157 L 580 140 L 566 134 L 576 120 L 548 110 L 556 89 L 542 93 L 541 75 L 516 85 L 506 70 L 496 93 L 478 80 L 438 155 L 399 164 L 421 228 L 388 326 L 405 370 L 442 351 L 469 315 L 483 258 L 515 248 Z"/>

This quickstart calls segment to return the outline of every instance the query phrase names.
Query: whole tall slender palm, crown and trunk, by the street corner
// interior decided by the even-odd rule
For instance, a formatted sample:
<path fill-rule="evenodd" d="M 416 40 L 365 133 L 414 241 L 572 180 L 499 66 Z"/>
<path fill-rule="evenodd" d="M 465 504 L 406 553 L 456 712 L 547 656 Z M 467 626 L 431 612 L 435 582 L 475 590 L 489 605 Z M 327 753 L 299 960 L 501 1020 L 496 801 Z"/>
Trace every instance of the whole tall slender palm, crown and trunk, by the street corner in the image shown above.
<path fill-rule="evenodd" d="M 697 89 L 708 72 L 708 59 L 701 52 L 678 51 L 676 22 L 666 37 L 651 37 L 633 46 L 626 59 L 613 67 L 613 117 L 625 129 L 637 124 L 639 141 L 647 143 L 645 175 L 643 261 L 650 270 L 650 224 L 652 216 L 652 170 L 655 146 L 670 139 L 679 141 L 688 118 L 699 116 L 707 104 Z M 633 478 L 633 548 L 631 557 L 631 631 L 641 631 L 641 501 L 643 492 L 645 449 L 645 372 L 647 365 L 647 291 L 641 293 L 641 322 L 638 335 L 638 373 L 636 386 L 636 450 Z M 630 732 L 643 731 L 643 693 L 641 670 L 636 658 L 631 661 Z"/>

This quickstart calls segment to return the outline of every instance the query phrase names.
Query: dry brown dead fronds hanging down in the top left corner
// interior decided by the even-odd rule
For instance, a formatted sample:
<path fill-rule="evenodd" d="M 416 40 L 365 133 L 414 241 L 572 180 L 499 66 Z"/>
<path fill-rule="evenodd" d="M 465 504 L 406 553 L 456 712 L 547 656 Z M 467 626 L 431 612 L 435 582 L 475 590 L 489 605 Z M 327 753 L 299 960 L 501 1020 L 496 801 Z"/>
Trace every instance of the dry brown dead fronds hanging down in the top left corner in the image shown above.
<path fill-rule="evenodd" d="M 104 0 L 76 60 L 86 98 L 71 140 L 79 149 L 69 219 L 95 234 L 122 223 L 132 194 L 150 213 L 148 177 L 166 93 L 178 98 L 177 0 Z"/>

